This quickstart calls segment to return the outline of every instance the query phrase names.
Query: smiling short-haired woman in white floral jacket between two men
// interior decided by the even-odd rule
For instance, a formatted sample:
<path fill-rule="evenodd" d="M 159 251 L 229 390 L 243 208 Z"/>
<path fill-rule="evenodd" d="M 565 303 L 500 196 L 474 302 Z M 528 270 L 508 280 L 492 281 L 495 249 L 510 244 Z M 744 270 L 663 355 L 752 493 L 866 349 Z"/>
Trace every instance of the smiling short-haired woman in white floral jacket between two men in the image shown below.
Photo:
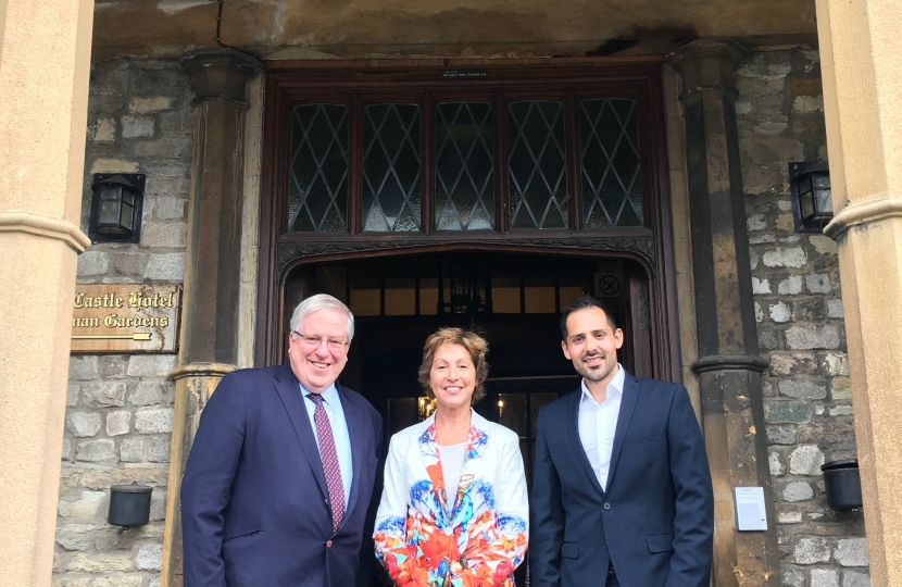
<path fill-rule="evenodd" d="M 517 435 L 478 415 L 488 344 L 461 328 L 426 340 L 426 421 L 391 438 L 376 557 L 399 587 L 513 587 L 529 507 Z"/>

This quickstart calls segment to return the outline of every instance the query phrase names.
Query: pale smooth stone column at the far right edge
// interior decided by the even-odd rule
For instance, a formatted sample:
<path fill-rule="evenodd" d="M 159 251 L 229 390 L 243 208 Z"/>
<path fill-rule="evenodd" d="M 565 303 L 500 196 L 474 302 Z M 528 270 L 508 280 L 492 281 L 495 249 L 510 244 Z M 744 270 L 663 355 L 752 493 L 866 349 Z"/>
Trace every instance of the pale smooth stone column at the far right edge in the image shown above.
<path fill-rule="evenodd" d="M 902 585 L 902 4 L 817 0 L 870 579 Z"/>

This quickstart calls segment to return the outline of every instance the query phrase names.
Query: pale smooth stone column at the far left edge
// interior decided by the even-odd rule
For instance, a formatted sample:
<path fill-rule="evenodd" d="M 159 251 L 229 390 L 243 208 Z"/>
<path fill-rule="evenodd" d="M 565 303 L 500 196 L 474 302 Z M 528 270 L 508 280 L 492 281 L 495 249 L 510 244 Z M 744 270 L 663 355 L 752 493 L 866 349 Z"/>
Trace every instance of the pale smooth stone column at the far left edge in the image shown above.
<path fill-rule="evenodd" d="M 92 0 L 0 2 L 0 582 L 50 585 Z"/>

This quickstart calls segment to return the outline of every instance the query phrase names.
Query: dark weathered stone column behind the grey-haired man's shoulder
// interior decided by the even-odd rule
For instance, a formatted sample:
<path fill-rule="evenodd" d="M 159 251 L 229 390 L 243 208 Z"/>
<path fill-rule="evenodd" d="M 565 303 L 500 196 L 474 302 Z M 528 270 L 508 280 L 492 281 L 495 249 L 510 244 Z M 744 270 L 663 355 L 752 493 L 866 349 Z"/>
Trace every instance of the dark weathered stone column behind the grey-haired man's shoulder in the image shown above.
<path fill-rule="evenodd" d="M 206 399 L 238 362 L 247 84 L 256 60 L 229 49 L 200 49 L 183 67 L 195 82 L 188 250 L 181 345 L 175 379 L 162 586 L 181 585 L 179 489 Z"/>

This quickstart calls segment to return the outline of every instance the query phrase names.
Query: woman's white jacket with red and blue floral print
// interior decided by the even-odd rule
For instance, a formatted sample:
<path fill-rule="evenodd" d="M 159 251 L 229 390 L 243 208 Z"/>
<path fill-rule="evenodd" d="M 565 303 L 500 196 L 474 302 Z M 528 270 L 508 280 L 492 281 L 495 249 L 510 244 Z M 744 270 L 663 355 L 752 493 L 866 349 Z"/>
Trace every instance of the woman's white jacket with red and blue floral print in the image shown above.
<path fill-rule="evenodd" d="M 435 415 L 391 437 L 376 514 L 376 557 L 403 587 L 513 587 L 529 505 L 516 433 L 473 412 L 453 505 Z"/>

